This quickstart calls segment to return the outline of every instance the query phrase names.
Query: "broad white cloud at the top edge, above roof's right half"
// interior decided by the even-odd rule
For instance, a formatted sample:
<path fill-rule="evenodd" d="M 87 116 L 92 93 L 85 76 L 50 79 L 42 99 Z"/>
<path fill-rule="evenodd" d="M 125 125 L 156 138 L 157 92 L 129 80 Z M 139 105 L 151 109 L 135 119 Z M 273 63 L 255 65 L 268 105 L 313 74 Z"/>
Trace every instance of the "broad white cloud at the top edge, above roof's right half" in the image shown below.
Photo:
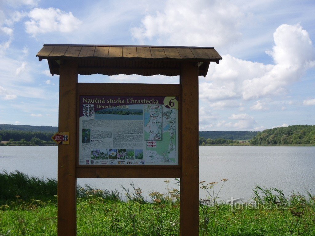
<path fill-rule="evenodd" d="M 168 45 L 227 47 L 241 37 L 244 13 L 230 1 L 169 0 L 162 11 L 146 14 L 132 36 L 142 44 L 155 39 Z"/>

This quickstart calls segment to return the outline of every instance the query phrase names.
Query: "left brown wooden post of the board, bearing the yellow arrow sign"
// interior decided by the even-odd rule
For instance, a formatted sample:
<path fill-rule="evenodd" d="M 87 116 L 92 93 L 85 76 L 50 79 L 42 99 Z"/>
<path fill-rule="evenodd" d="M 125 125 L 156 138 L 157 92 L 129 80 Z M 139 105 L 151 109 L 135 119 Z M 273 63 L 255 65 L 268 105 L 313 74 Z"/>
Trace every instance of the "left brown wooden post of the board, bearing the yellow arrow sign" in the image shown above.
<path fill-rule="evenodd" d="M 76 132 L 77 63 L 61 61 L 59 82 L 59 132 L 70 132 L 68 145 L 58 146 L 58 236 L 77 235 Z"/>

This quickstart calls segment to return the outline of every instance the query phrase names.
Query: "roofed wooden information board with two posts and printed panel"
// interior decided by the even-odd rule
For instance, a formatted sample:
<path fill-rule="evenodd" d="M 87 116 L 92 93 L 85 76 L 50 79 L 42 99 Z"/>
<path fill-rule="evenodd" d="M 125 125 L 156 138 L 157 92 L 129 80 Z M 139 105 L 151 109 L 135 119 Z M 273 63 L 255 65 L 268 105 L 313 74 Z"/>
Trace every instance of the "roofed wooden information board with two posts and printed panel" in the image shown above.
<path fill-rule="evenodd" d="M 199 235 L 198 76 L 214 48 L 44 44 L 60 75 L 58 235 L 77 233 L 77 178 L 180 178 L 180 235 Z M 180 76 L 180 84 L 78 83 L 78 74 Z"/>

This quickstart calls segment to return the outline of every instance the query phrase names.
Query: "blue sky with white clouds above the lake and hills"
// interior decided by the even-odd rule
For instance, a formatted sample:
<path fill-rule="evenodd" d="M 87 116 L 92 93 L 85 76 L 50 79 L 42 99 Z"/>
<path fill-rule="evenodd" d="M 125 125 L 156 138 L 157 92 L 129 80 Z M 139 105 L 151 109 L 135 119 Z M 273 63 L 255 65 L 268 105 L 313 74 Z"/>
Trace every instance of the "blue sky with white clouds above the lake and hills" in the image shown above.
<path fill-rule="evenodd" d="M 62 43 L 214 47 L 223 59 L 199 77 L 200 131 L 314 125 L 314 22 L 313 0 L 1 0 L 0 124 L 58 126 L 59 76 L 36 54 L 44 43 Z"/>

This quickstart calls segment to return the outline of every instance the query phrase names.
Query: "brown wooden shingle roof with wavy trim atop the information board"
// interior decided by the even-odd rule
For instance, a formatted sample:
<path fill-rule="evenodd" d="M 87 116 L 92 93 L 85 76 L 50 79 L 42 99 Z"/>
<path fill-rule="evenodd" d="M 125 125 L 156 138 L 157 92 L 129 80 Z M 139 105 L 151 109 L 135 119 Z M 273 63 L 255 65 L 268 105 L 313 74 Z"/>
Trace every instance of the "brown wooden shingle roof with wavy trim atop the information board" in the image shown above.
<path fill-rule="evenodd" d="M 77 60 L 78 74 L 177 76 L 183 61 L 198 63 L 199 76 L 206 76 L 210 62 L 222 57 L 212 47 L 133 45 L 44 44 L 36 55 L 48 59 L 50 73 L 59 75 L 60 61 Z"/>

